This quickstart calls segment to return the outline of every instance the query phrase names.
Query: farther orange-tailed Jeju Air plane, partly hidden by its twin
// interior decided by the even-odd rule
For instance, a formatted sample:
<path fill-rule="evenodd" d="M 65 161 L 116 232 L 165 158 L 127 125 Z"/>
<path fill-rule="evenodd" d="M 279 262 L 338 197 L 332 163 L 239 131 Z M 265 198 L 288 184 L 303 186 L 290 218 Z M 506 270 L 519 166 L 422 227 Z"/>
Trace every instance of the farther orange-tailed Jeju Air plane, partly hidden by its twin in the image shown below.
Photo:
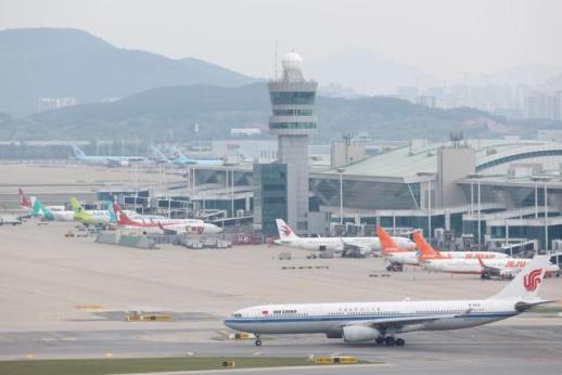
<path fill-rule="evenodd" d="M 414 232 L 413 237 L 417 238 Z M 382 254 L 383 257 L 393 262 L 400 264 L 409 264 L 409 266 L 420 266 L 418 251 L 410 251 L 406 248 L 403 248 L 399 244 L 396 244 L 386 233 L 386 231 L 382 227 L 376 228 L 376 235 L 381 240 L 382 244 Z M 420 247 L 420 244 L 417 243 L 417 246 Z M 429 246 L 429 245 L 427 245 Z M 443 251 L 440 253 L 444 258 L 448 259 L 499 259 L 499 258 L 508 258 L 508 256 L 503 253 L 497 251 Z"/>

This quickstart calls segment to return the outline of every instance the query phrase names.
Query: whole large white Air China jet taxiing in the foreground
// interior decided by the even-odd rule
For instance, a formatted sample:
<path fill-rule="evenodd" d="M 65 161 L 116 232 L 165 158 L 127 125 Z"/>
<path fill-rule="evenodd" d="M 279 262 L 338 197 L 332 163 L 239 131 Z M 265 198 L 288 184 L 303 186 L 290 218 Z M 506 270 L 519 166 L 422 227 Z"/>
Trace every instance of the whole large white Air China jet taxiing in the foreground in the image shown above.
<path fill-rule="evenodd" d="M 225 320 L 232 329 L 263 334 L 325 334 L 345 342 L 404 346 L 396 335 L 414 331 L 474 327 L 550 302 L 537 297 L 549 256 L 536 256 L 501 292 L 487 299 L 264 305 L 238 310 Z"/>

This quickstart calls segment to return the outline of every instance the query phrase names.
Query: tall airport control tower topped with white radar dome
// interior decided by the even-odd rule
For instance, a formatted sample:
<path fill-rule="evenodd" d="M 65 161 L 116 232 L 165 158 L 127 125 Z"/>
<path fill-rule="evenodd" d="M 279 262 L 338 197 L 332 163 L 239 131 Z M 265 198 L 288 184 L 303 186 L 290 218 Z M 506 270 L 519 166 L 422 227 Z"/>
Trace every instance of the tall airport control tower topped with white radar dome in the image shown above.
<path fill-rule="evenodd" d="M 305 80 L 303 59 L 290 52 L 283 74 L 268 83 L 272 116 L 269 132 L 278 135 L 278 159 L 286 164 L 286 219 L 299 234 L 308 234 L 308 138 L 316 132 L 314 104 L 318 83 Z"/>

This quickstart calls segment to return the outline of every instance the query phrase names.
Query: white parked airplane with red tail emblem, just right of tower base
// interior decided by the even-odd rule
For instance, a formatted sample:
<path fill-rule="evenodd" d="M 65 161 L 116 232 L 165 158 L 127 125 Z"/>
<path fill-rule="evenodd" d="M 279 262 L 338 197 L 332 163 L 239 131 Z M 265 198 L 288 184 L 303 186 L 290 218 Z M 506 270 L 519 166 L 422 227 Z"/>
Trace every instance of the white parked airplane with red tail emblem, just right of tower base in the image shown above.
<path fill-rule="evenodd" d="M 381 250 L 381 243 L 378 237 L 299 237 L 282 219 L 276 219 L 276 222 L 279 232 L 279 240 L 274 241 L 277 245 L 311 251 L 343 251 L 345 248 L 355 248 L 361 255 Z M 393 240 L 404 248 L 416 248 L 416 244 L 409 238 L 393 237 Z"/>

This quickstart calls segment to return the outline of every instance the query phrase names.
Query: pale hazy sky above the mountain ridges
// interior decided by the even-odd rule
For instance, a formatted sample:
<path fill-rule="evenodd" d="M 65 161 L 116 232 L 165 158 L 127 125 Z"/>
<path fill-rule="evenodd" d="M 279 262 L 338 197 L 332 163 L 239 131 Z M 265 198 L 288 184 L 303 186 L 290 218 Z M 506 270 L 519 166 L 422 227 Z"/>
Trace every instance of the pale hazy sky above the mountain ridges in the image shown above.
<path fill-rule="evenodd" d="M 562 66 L 561 15 L 560 0 L 0 0 L 0 28 L 80 28 L 261 77 L 276 40 L 305 64 L 370 49 L 438 76 Z"/>

